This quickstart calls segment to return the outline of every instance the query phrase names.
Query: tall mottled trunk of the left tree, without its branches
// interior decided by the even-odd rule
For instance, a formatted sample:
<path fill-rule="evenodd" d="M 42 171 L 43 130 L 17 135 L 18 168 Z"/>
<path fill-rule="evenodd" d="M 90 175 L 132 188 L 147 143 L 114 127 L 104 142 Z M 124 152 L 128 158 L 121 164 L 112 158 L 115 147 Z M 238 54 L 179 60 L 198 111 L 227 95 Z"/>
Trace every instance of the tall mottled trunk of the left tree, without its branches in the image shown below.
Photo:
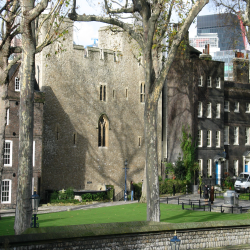
<path fill-rule="evenodd" d="M 25 2 L 25 1 L 24 1 Z M 30 6 L 29 8 L 31 8 Z M 25 7 L 24 7 L 25 8 Z M 28 7 L 27 7 L 28 8 Z M 22 11 L 25 13 L 25 11 Z M 24 14 L 23 14 L 24 15 Z M 22 35 L 22 78 L 19 110 L 19 154 L 18 186 L 15 216 L 15 234 L 21 234 L 30 227 L 32 218 L 32 153 L 34 126 L 34 69 L 35 44 L 32 36 L 31 22 L 23 16 Z"/>

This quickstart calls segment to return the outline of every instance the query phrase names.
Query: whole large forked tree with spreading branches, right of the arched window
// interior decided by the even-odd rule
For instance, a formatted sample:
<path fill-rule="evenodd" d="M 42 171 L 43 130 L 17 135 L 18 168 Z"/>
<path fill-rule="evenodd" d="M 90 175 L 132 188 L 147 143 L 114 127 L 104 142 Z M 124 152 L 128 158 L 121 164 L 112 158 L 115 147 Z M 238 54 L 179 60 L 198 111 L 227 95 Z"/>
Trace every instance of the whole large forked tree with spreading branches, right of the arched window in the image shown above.
<path fill-rule="evenodd" d="M 161 91 L 174 61 L 178 47 L 187 33 L 189 26 L 209 0 L 183 2 L 182 0 L 104 0 L 104 16 L 78 15 L 76 0 L 72 13 L 74 21 L 98 21 L 119 27 L 127 32 L 140 46 L 145 75 L 145 112 L 144 129 L 146 145 L 146 189 L 147 220 L 160 221 L 160 200 L 157 157 L 157 108 Z M 123 2 L 124 4 L 122 5 Z M 112 4 L 117 6 L 112 8 Z M 172 14 L 178 15 L 181 22 L 176 26 L 171 23 Z M 123 16 L 122 16 L 123 14 Z M 124 14 L 130 14 L 135 25 L 124 22 Z M 161 61 L 165 51 L 164 39 L 168 39 L 168 55 Z"/>

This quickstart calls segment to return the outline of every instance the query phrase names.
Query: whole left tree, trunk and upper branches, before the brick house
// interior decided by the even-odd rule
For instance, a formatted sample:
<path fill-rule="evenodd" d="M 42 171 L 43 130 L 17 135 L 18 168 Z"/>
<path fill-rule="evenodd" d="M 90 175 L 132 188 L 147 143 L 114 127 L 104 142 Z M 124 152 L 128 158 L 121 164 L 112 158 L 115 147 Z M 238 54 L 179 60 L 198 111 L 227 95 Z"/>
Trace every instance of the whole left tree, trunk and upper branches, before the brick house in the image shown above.
<path fill-rule="evenodd" d="M 18 52 L 22 52 L 22 77 L 20 91 L 19 110 L 19 154 L 18 154 L 18 187 L 15 216 L 15 234 L 21 234 L 30 227 L 31 208 L 31 187 L 32 187 L 32 151 L 33 151 L 33 123 L 34 123 L 34 81 L 35 81 L 35 54 L 40 52 L 45 46 L 51 44 L 63 33 L 60 32 L 60 23 L 63 16 L 60 16 L 63 5 L 68 5 L 66 0 L 56 0 L 55 6 L 40 22 L 38 17 L 48 7 L 49 0 L 41 0 L 39 3 L 34 0 L 13 1 L 18 2 L 14 16 L 21 13 L 20 22 L 17 24 L 18 32 L 22 34 L 22 47 Z M 20 2 L 20 5 L 19 5 Z M 21 6 L 21 7 L 20 7 Z M 6 8 L 7 11 L 10 9 Z M 10 11 L 11 12 L 11 11 Z M 16 19 L 15 19 L 16 20 Z M 5 21 L 5 20 L 4 20 Z M 41 26 L 49 22 L 45 39 L 37 44 Z M 13 27 L 13 21 L 9 24 Z M 11 28 L 10 28 L 11 29 Z M 11 35 L 8 38 L 11 40 Z M 8 49 L 8 48 L 7 48 Z M 7 50 L 6 49 L 6 50 Z M 10 55 L 6 52 L 6 57 Z M 5 71 L 8 66 L 5 66 Z M 3 77 L 4 80 L 4 77 Z M 1 82 L 1 86 L 6 85 Z M 2 97 L 2 96 L 1 96 Z"/>

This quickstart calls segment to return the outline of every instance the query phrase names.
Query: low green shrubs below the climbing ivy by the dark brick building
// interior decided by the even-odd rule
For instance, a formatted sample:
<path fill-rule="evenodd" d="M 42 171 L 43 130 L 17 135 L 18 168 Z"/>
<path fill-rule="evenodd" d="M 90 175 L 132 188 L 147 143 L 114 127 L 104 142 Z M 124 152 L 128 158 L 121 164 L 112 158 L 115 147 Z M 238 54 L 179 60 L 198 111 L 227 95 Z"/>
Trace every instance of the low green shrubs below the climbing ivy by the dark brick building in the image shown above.
<path fill-rule="evenodd" d="M 190 183 L 187 180 L 165 179 L 164 181 L 160 182 L 160 186 L 159 186 L 160 194 L 172 194 L 173 185 L 175 185 L 176 193 L 185 193 L 186 185 L 189 186 L 189 184 Z"/>

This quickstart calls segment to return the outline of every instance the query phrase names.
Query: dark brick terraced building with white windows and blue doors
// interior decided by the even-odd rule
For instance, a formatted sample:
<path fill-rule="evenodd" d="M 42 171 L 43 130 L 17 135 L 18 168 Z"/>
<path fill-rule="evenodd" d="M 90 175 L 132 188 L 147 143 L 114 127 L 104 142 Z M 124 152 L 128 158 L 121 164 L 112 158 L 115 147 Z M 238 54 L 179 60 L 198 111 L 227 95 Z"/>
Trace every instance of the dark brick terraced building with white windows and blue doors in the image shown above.
<path fill-rule="evenodd" d="M 234 78 L 229 82 L 224 81 L 223 62 L 192 50 L 179 55 L 164 89 L 164 159 L 175 162 L 182 154 L 184 125 L 197 146 L 203 181 L 220 185 L 228 174 L 233 177 L 250 169 L 249 61 L 233 60 Z"/>

